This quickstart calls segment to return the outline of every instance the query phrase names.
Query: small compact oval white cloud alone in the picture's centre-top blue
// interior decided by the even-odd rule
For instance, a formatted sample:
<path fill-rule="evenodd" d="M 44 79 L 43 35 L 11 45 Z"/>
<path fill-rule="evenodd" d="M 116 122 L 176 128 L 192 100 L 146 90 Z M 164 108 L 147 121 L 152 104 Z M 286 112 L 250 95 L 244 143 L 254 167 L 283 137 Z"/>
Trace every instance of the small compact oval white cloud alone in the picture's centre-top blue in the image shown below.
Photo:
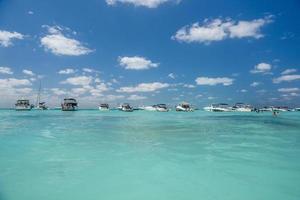
<path fill-rule="evenodd" d="M 119 64 L 125 69 L 131 70 L 145 70 L 159 65 L 159 63 L 153 63 L 151 60 L 139 56 L 119 57 Z"/>

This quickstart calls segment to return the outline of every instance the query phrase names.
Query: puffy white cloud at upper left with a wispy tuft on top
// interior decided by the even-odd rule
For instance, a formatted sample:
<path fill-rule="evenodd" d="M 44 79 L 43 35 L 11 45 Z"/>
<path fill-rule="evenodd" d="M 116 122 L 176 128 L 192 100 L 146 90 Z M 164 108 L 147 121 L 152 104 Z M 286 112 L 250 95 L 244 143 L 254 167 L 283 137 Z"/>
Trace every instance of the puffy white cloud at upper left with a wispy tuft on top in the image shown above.
<path fill-rule="evenodd" d="M 78 40 L 63 35 L 63 28 L 59 26 L 43 26 L 48 28 L 49 34 L 41 38 L 41 44 L 45 50 L 55 55 L 80 56 L 89 54 L 91 49 L 83 46 Z M 67 29 L 69 30 L 69 29 Z"/>

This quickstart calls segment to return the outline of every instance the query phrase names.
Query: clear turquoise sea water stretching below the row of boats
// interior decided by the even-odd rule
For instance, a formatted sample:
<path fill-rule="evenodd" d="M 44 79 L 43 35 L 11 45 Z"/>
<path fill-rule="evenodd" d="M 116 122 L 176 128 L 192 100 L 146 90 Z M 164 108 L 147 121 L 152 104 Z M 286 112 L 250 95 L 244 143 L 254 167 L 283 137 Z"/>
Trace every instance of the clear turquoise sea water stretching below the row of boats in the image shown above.
<path fill-rule="evenodd" d="M 0 200 L 299 200 L 300 113 L 0 111 Z"/>

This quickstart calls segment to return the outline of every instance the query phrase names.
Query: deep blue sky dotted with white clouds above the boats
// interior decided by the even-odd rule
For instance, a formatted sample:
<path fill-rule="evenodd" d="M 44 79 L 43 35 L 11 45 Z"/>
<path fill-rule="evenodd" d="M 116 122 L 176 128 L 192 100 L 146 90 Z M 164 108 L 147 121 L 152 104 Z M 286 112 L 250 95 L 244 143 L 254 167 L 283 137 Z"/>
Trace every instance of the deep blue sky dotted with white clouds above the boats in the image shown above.
<path fill-rule="evenodd" d="M 0 107 L 300 106 L 300 1 L 0 0 Z"/>

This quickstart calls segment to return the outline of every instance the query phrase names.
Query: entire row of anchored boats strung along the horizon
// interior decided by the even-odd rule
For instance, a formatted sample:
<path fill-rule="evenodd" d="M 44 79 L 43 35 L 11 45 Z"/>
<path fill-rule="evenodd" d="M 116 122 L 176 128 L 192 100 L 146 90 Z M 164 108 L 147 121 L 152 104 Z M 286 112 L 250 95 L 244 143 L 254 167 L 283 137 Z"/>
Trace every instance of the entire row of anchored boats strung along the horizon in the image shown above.
<path fill-rule="evenodd" d="M 157 112 L 168 112 L 171 109 L 166 104 L 155 104 L 152 106 L 141 106 L 134 108 L 129 103 L 123 103 L 118 107 L 110 107 L 107 103 L 102 103 L 99 105 L 100 111 L 109 111 L 109 110 L 120 110 L 124 112 L 133 112 L 135 110 L 145 110 L 145 111 L 157 111 Z M 29 100 L 17 100 L 15 104 L 15 109 L 18 111 L 24 110 L 48 110 L 45 102 L 37 101 L 36 105 L 30 104 Z M 78 110 L 78 103 L 74 98 L 65 98 L 59 107 L 62 111 L 76 111 Z M 197 110 L 187 102 L 182 102 L 175 107 L 175 110 L 178 112 L 193 112 Z M 289 109 L 288 107 L 263 107 L 263 108 L 254 108 L 249 104 L 236 103 L 233 106 L 230 106 L 226 103 L 211 104 L 210 106 L 204 107 L 203 110 L 209 112 L 285 112 L 285 111 L 300 111 L 300 108 Z"/>

